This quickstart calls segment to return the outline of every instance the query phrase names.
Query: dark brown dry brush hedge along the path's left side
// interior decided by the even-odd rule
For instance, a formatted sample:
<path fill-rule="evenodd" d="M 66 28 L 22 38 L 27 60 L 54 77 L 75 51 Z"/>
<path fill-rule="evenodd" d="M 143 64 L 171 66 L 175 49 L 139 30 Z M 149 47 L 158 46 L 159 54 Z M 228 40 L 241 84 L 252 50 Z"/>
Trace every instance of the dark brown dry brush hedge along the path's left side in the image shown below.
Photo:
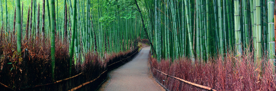
<path fill-rule="evenodd" d="M 0 37 L 0 83 L 19 90 L 21 87 L 53 82 L 50 73 L 49 38 L 45 40 L 40 38 L 23 40 L 22 61 L 19 62 L 16 38 L 5 35 L 0 35 Z M 55 40 L 55 80 L 61 80 L 69 77 L 69 44 L 58 38 Z M 84 56 L 83 64 L 72 66 L 71 76 L 83 72 L 81 77 L 84 77 L 82 79 L 85 81 L 95 79 L 107 69 L 107 63 L 110 60 L 130 52 L 106 54 L 105 58 L 99 57 L 97 53 L 89 52 Z"/>

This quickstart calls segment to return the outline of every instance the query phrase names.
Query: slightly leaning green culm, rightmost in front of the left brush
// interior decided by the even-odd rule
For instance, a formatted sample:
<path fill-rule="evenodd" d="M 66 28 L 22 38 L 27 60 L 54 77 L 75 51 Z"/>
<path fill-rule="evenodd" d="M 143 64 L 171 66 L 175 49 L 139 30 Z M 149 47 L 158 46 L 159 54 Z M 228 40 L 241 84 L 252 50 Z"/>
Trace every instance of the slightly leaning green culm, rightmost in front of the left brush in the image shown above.
<path fill-rule="evenodd" d="M 72 60 L 74 55 L 74 41 L 75 41 L 75 30 L 76 30 L 76 15 L 77 15 L 77 0 L 74 0 L 73 2 L 73 23 L 72 23 L 72 35 L 71 35 L 71 46 L 69 51 L 69 77 L 71 76 L 71 70 L 72 70 Z"/>

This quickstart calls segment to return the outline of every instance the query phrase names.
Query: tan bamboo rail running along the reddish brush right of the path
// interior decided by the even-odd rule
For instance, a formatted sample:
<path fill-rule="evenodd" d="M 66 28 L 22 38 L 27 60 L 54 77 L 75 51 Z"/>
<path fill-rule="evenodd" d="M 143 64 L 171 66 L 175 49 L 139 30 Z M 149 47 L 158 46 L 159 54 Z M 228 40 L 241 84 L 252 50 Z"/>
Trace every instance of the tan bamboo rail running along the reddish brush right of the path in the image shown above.
<path fill-rule="evenodd" d="M 199 85 L 199 84 L 196 84 L 196 83 L 188 82 L 188 81 L 186 81 L 186 80 L 184 80 L 184 79 L 180 79 L 180 78 L 177 78 L 177 77 L 174 77 L 174 76 L 170 76 L 170 75 L 168 75 L 168 74 L 166 74 L 166 73 L 164 73 L 164 72 L 161 72 L 161 71 L 155 69 L 154 67 L 152 67 L 152 68 L 153 68 L 154 70 L 156 70 L 156 71 L 158 71 L 158 72 L 160 72 L 160 73 L 166 75 L 166 76 L 172 77 L 172 78 L 174 78 L 174 79 L 178 79 L 178 80 L 180 80 L 180 81 L 182 81 L 182 82 L 185 82 L 185 83 L 187 83 L 187 84 L 190 84 L 190 85 L 192 85 L 192 86 L 196 86 L 196 87 L 199 87 L 199 88 L 202 88 L 202 89 L 206 89 L 206 90 L 209 90 L 209 91 L 217 91 L 217 90 L 215 90 L 215 89 L 213 89 L 213 88 L 210 88 L 210 87 L 207 87 L 207 86 L 202 86 L 202 85 Z"/>

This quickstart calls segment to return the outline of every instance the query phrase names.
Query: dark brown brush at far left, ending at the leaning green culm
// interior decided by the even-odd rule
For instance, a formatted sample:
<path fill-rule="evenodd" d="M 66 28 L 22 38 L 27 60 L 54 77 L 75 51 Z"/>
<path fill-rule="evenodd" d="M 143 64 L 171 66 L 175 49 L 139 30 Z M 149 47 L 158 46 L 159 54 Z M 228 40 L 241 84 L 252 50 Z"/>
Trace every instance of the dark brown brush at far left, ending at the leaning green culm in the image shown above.
<path fill-rule="evenodd" d="M 22 86 L 31 86 L 51 82 L 50 75 L 50 40 L 42 40 L 36 38 L 34 41 L 22 41 L 22 58 L 18 60 L 19 55 L 16 52 L 16 41 L 14 38 L 1 39 L 2 45 L 0 60 L 0 82 L 12 88 L 19 89 Z M 64 79 L 68 77 L 67 60 L 68 46 L 58 39 L 56 43 L 56 79 Z M 75 73 L 75 72 L 73 72 Z"/>

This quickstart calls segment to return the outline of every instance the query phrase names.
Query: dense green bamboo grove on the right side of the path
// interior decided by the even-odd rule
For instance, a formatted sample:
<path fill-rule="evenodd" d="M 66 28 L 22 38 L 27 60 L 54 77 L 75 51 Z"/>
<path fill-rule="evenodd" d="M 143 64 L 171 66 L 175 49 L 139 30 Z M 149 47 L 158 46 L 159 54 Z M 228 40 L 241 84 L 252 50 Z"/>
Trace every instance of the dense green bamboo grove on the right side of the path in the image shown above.
<path fill-rule="evenodd" d="M 144 0 L 154 57 L 208 61 L 254 52 L 275 66 L 274 0 Z M 152 51 L 154 52 L 154 51 Z M 199 61 L 200 61 L 199 60 Z"/>

